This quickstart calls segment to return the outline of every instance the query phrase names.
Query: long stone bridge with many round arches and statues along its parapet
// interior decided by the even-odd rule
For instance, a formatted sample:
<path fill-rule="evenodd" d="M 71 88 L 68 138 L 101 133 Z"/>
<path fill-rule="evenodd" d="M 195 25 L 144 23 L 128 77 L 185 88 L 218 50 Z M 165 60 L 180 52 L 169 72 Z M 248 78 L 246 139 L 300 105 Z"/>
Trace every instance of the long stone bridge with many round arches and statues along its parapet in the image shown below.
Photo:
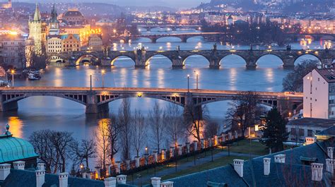
<path fill-rule="evenodd" d="M 264 49 L 264 50 L 218 50 L 214 46 L 211 50 L 174 50 L 174 51 L 146 51 L 145 49 L 136 49 L 134 51 L 110 51 L 110 47 L 106 47 L 102 52 L 63 52 L 48 54 L 49 59 L 57 56 L 63 59 L 68 66 L 78 66 L 83 59 L 94 59 L 94 65 L 114 66 L 114 61 L 119 57 L 127 57 L 134 61 L 136 67 L 146 67 L 150 64 L 153 56 L 165 56 L 170 59 L 173 68 L 182 68 L 189 56 L 204 56 L 208 60 L 210 68 L 219 68 L 221 61 L 224 62 L 225 57 L 229 55 L 237 55 L 245 60 L 247 68 L 256 68 L 257 61 L 266 55 L 278 56 L 283 61 L 283 68 L 294 67 L 295 61 L 304 55 L 312 55 L 317 57 L 322 65 L 331 65 L 335 59 L 335 51 L 331 49 Z"/>

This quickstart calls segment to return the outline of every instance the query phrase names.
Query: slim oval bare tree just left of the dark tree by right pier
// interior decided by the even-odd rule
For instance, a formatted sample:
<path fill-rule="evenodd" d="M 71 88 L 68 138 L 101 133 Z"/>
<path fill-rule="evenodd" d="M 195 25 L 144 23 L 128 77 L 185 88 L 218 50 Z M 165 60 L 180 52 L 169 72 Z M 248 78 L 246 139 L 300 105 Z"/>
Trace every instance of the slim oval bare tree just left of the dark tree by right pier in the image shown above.
<path fill-rule="evenodd" d="M 178 142 L 184 137 L 184 124 L 182 114 L 177 104 L 168 104 L 165 108 L 165 126 L 170 140 L 177 146 Z"/>

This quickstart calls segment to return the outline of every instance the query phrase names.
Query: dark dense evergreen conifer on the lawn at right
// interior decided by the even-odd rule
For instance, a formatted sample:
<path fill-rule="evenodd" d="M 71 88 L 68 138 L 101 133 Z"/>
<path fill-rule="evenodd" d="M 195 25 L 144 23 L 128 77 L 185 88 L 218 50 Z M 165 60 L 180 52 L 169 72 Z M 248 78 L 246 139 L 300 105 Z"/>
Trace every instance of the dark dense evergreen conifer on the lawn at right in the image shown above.
<path fill-rule="evenodd" d="M 266 147 L 274 152 L 283 150 L 283 142 L 288 139 L 286 121 L 276 108 L 271 109 L 267 114 L 263 133 Z"/>

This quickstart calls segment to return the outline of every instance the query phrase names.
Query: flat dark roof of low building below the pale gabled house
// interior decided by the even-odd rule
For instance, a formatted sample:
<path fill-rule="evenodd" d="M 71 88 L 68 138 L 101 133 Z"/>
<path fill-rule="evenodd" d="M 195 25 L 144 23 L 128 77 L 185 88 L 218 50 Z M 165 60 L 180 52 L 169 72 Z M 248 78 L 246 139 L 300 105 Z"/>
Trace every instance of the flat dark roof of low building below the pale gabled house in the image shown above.
<path fill-rule="evenodd" d="M 300 118 L 300 119 L 293 119 L 288 121 L 288 125 L 293 126 L 319 126 L 323 128 L 329 128 L 334 126 L 335 120 L 334 119 L 319 119 L 319 118 Z"/>

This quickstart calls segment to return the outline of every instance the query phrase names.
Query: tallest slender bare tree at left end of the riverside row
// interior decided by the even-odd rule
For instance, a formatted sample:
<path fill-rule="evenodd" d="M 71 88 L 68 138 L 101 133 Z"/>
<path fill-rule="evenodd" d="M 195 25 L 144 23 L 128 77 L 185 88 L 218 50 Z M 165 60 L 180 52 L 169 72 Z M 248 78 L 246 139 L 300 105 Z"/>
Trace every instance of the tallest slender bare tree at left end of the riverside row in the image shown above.
<path fill-rule="evenodd" d="M 131 110 L 129 99 L 123 99 L 122 104 L 119 107 L 119 114 L 117 116 L 117 123 L 121 126 L 121 147 L 122 147 L 122 159 L 130 159 L 131 151 Z"/>

